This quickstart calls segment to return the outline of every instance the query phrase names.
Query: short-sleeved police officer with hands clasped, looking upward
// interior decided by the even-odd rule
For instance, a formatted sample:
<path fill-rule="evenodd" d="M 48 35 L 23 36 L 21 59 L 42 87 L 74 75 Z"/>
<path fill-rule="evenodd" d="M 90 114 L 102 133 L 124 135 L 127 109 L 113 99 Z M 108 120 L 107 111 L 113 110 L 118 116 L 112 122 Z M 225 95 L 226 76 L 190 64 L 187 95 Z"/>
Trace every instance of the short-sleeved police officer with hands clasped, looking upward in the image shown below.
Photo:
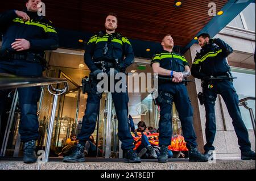
<path fill-rule="evenodd" d="M 155 54 L 151 66 L 154 73 L 162 77 L 172 78 L 172 81 L 159 79 L 159 94 L 157 103 L 160 106 L 159 121 L 159 146 L 160 155 L 158 162 L 168 161 L 168 145 L 172 139 L 172 103 L 175 102 L 179 119 L 184 133 L 187 148 L 189 149 L 189 161 L 206 162 L 208 156 L 197 150 L 196 134 L 193 128 L 193 110 L 188 97 L 183 78 L 191 75 L 189 64 L 184 56 L 174 53 L 174 40 L 171 35 L 164 36 L 161 45 L 163 51 Z"/>

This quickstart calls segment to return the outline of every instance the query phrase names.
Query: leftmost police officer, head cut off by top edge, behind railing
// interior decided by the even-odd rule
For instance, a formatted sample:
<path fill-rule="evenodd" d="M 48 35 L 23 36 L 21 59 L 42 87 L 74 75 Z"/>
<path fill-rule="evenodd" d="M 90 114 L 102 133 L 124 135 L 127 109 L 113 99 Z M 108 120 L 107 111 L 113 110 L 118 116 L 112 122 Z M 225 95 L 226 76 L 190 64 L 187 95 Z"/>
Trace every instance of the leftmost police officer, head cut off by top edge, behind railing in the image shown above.
<path fill-rule="evenodd" d="M 40 0 L 29 0 L 26 10 L 10 10 L 0 14 L 0 34 L 3 35 L 0 50 L 0 73 L 20 76 L 42 76 L 44 50 L 58 47 L 55 28 L 44 16 L 38 15 Z M 0 104 L 3 107 L 6 91 L 0 91 Z M 35 142 L 39 137 L 37 102 L 40 87 L 18 89 L 21 109 L 19 134 L 23 142 L 23 161 L 36 161 Z"/>

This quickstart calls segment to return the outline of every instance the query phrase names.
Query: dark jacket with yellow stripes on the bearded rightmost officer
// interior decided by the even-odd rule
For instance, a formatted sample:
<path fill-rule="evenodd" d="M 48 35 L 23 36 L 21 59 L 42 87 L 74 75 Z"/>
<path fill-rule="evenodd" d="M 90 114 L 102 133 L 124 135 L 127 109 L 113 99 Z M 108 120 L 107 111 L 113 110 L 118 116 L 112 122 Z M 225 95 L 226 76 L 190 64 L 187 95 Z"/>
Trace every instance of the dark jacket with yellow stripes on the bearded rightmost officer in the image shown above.
<path fill-rule="evenodd" d="M 213 39 L 213 44 L 205 45 L 200 53 L 197 53 L 191 74 L 196 78 L 225 75 L 227 71 L 230 71 L 226 57 L 232 52 L 233 49 L 224 41 Z"/>

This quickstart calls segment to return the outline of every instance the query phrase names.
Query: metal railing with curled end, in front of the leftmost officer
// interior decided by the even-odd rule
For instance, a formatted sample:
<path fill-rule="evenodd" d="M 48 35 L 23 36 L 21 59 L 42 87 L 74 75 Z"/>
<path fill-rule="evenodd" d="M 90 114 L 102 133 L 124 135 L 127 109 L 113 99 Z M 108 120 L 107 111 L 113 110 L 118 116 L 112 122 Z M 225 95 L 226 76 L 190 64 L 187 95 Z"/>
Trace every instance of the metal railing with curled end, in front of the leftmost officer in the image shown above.
<path fill-rule="evenodd" d="M 56 89 L 52 85 L 59 85 L 60 83 L 64 84 L 64 89 Z M 51 147 L 51 138 L 52 138 L 52 132 L 53 132 L 53 125 L 55 121 L 55 113 L 57 108 L 57 100 L 60 95 L 63 95 L 65 92 L 68 91 L 68 81 L 65 78 L 47 78 L 47 77 L 19 77 L 13 74 L 4 74 L 0 73 L 0 90 L 1 89 L 18 89 L 20 87 L 33 87 L 33 86 L 47 86 L 48 91 L 50 94 L 54 96 L 53 98 L 53 105 L 52 105 L 52 112 L 51 112 L 51 119 L 49 121 L 49 129 L 48 129 L 48 135 L 47 135 L 47 142 L 46 142 L 46 150 L 44 152 L 44 161 L 48 162 L 49 158 L 49 151 Z M 16 96 L 17 97 L 17 96 Z M 12 105 L 13 107 L 14 105 Z M 5 131 L 5 138 L 1 154 L 5 155 L 5 150 L 7 147 L 7 141 L 11 129 L 12 119 L 13 117 L 9 115 L 9 123 L 7 124 L 7 128 Z"/>

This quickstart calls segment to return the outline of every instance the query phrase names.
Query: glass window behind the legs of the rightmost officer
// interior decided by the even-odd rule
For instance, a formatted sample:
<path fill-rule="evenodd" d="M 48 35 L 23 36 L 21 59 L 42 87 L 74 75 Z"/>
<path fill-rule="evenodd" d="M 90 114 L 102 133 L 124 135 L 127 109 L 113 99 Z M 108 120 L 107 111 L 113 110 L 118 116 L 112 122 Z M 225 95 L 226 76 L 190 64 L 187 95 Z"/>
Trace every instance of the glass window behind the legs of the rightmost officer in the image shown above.
<path fill-rule="evenodd" d="M 255 74 L 245 74 L 245 73 L 238 73 L 232 72 L 234 77 L 234 87 L 237 91 L 239 99 L 246 98 L 247 96 L 255 96 Z M 254 116 L 255 116 L 255 100 L 247 101 L 247 106 L 253 109 Z M 253 129 L 253 125 L 251 123 L 250 113 L 249 110 L 246 110 L 245 107 L 240 106 L 240 111 L 242 114 L 242 119 L 245 122 L 247 129 Z"/>

